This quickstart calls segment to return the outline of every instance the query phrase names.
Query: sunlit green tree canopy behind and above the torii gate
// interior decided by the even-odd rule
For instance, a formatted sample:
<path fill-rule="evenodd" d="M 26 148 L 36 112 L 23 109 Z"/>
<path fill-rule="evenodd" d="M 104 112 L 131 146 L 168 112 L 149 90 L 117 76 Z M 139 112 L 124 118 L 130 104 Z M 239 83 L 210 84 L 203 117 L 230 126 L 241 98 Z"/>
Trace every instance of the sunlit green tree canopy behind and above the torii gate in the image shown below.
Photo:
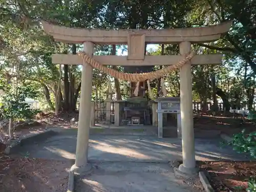
<path fill-rule="evenodd" d="M 15 75 L 19 68 L 18 72 L 22 74 L 22 80 L 33 84 L 34 89 L 40 91 L 40 101 L 45 100 L 51 109 L 54 108 L 55 88 L 59 79 L 58 66 L 52 65 L 51 55 L 53 53 L 73 53 L 73 45 L 56 42 L 46 35 L 41 28 L 40 19 L 68 27 L 101 29 L 186 28 L 233 20 L 233 26 L 228 35 L 223 35 L 220 40 L 203 46 L 194 45 L 194 49 L 199 54 L 221 51 L 224 65 L 193 67 L 193 99 L 197 101 L 212 100 L 210 79 L 214 75 L 216 86 L 219 88 L 217 91 L 222 93 L 222 96 L 224 93 L 228 102 L 242 102 L 252 109 L 256 71 L 255 1 L 95 0 L 84 3 L 81 0 L 20 0 L 18 2 L 9 0 L 1 1 L 0 18 L 2 20 L 0 25 L 0 75 L 2 71 L 8 71 Z M 77 52 L 81 51 L 82 45 L 75 46 Z M 126 49 L 126 47 L 117 46 L 117 49 Z M 111 46 L 95 46 L 95 55 L 110 53 Z M 161 54 L 161 49 L 153 54 Z M 179 54 L 178 46 L 165 45 L 164 54 Z M 13 66 L 15 70 L 13 70 Z M 122 68 L 118 68 L 118 70 L 121 71 Z M 67 86 L 67 83 L 61 82 L 64 103 L 72 99 L 64 93 L 63 87 L 69 87 L 69 92 L 75 93 L 77 90 L 79 93 L 77 88 L 81 79 L 81 67 L 69 66 L 67 71 L 68 80 L 66 82 L 70 82 L 70 84 Z M 62 74 L 65 74 L 64 70 Z M 103 92 L 108 87 L 106 78 L 101 79 L 102 75 L 98 70 L 93 70 L 92 95 L 94 97 L 97 95 L 96 88 L 98 92 Z M 65 79 L 64 76 L 62 79 Z M 239 78 L 231 80 L 233 76 Z M 169 96 L 179 96 L 178 70 L 164 78 Z M 2 76 L 0 81 L 1 79 Z M 155 86 L 152 89 L 157 90 L 157 80 L 152 83 Z M 123 88 L 122 82 L 120 82 L 120 87 Z M 70 94 L 71 98 L 75 98 L 73 95 L 75 94 Z M 103 94 L 101 97 L 104 97 Z"/>

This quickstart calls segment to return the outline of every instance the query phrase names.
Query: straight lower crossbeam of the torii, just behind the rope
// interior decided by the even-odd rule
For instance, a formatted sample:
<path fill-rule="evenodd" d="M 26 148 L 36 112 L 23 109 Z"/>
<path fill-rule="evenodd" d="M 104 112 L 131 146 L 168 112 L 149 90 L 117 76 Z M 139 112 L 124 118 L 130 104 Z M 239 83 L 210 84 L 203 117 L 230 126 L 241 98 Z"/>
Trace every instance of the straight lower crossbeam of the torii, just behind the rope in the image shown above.
<path fill-rule="evenodd" d="M 191 59 L 191 65 L 221 64 L 221 54 L 195 55 Z M 145 55 L 144 60 L 127 60 L 127 56 L 94 55 L 93 58 L 109 66 L 169 66 L 184 59 L 182 55 Z M 82 58 L 79 55 L 53 54 L 52 63 L 63 65 L 81 65 Z"/>

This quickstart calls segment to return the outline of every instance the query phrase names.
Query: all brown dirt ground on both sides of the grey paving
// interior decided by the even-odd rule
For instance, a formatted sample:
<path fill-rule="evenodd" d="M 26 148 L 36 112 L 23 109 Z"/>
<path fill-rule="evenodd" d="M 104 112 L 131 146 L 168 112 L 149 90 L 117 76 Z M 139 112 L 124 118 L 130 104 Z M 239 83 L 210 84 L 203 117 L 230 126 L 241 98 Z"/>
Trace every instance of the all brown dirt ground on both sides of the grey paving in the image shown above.
<path fill-rule="evenodd" d="M 14 134 L 18 138 L 32 132 L 43 132 L 47 126 L 70 129 L 70 127 L 77 126 L 71 122 L 74 116 L 76 117 L 77 114 L 64 114 L 60 117 L 54 117 L 52 114 L 41 114 L 36 117 L 38 123 L 35 126 L 20 126 Z M 195 116 L 194 127 L 195 131 L 217 130 L 230 136 L 241 132 L 243 129 L 246 129 L 247 132 L 255 131 L 253 122 L 246 120 L 243 123 L 241 117 L 234 119 L 232 114 Z M 7 134 L 0 133 L 0 137 L 4 142 L 8 140 Z M 0 146 L 0 154 L 1 147 L 4 148 Z M 240 186 L 245 188 L 247 184 L 245 179 L 256 175 L 256 163 L 254 162 L 200 162 L 199 165 L 201 169 L 209 171 L 212 178 L 210 182 L 217 191 L 221 192 L 236 191 L 234 189 Z M 0 155 L 0 192 L 66 191 L 68 185 L 67 169 L 70 167 L 71 163 L 66 161 Z"/>

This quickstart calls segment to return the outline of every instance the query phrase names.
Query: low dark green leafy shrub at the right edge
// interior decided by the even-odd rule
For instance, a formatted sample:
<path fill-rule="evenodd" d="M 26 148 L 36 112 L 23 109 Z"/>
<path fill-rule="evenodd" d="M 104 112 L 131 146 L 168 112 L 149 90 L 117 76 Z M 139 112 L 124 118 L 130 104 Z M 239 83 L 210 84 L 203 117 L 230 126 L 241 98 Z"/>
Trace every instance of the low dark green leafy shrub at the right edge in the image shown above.
<path fill-rule="evenodd" d="M 238 153 L 249 153 L 251 157 L 256 159 L 256 132 L 249 134 L 243 130 L 241 133 L 234 134 L 231 141 L 228 142 Z"/>

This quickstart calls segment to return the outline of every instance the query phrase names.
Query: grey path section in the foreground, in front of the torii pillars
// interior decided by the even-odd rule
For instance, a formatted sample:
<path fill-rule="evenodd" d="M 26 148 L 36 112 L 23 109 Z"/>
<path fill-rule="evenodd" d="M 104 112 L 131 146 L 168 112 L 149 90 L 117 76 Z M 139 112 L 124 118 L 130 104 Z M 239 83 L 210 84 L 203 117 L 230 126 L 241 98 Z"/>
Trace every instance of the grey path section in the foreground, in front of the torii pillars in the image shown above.
<path fill-rule="evenodd" d="M 167 163 L 103 162 L 90 176 L 76 181 L 79 192 L 193 192 L 201 184 L 174 176 Z"/>

